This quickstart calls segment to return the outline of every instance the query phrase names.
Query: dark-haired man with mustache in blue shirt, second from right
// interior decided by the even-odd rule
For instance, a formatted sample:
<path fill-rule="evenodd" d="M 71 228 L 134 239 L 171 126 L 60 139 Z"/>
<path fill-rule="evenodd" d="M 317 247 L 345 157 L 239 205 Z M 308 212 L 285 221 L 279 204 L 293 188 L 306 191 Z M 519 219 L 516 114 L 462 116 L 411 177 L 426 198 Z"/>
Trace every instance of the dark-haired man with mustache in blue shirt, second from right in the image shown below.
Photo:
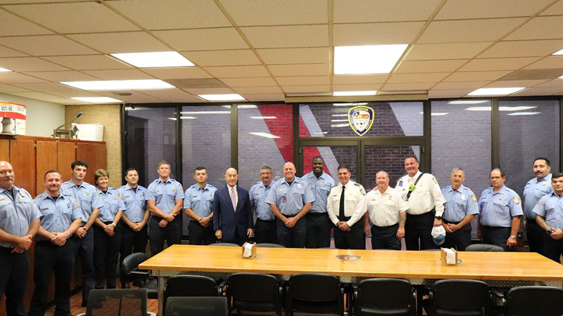
<path fill-rule="evenodd" d="M 528 237 L 530 251 L 537 252 L 538 254 L 543 253 L 543 235 L 545 235 L 545 232 L 536 223 L 536 213 L 533 213 L 533 208 L 541 197 L 553 192 L 550 172 L 549 159 L 545 157 L 536 158 L 533 161 L 533 173 L 536 174 L 536 178 L 529 180 L 524 187 L 524 227 L 526 228 L 526 237 Z"/>

